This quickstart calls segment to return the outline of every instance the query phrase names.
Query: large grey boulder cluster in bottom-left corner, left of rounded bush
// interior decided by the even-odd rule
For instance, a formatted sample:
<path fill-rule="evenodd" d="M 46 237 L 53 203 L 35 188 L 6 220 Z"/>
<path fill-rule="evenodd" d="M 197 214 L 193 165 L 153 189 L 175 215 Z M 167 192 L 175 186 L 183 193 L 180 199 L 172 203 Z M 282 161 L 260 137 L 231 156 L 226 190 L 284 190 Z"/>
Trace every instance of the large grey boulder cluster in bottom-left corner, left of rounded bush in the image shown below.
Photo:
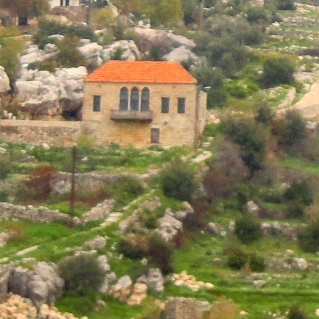
<path fill-rule="evenodd" d="M 39 308 L 42 304 L 53 304 L 62 296 L 64 281 L 57 275 L 53 263 L 39 262 L 33 270 L 20 266 L 11 269 L 8 291 L 29 298 Z"/>

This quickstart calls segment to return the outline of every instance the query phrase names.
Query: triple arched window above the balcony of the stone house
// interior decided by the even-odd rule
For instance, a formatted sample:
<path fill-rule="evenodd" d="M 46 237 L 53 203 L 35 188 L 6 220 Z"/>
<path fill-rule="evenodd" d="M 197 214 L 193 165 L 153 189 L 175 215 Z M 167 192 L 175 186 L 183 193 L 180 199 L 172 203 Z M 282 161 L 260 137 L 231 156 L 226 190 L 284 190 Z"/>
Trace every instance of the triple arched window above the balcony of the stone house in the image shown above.
<path fill-rule="evenodd" d="M 126 87 L 123 87 L 120 92 L 120 110 L 132 111 L 148 111 L 150 109 L 150 90 L 144 88 L 141 93 L 137 87 L 132 88 L 131 94 Z"/>

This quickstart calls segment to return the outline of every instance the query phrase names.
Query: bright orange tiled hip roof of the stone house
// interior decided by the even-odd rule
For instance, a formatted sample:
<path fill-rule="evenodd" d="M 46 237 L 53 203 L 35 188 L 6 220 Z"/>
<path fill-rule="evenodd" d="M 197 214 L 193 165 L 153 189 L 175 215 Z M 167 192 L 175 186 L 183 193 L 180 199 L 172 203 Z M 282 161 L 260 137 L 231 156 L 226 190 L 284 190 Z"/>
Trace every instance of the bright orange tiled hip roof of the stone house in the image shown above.
<path fill-rule="evenodd" d="M 97 68 L 85 82 L 197 83 L 177 62 L 115 61 Z"/>

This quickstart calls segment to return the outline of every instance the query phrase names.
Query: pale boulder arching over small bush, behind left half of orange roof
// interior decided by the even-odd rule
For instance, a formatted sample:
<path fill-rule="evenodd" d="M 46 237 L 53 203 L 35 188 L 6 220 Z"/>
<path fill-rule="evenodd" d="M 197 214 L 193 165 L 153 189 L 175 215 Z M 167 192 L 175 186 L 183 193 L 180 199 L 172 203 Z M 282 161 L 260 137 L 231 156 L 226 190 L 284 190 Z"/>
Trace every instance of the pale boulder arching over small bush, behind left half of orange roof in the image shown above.
<path fill-rule="evenodd" d="M 102 51 L 103 61 L 108 61 L 112 58 L 112 55 L 116 50 L 122 50 L 123 60 L 139 60 L 141 58 L 141 52 L 133 40 L 121 40 L 108 45 Z"/>

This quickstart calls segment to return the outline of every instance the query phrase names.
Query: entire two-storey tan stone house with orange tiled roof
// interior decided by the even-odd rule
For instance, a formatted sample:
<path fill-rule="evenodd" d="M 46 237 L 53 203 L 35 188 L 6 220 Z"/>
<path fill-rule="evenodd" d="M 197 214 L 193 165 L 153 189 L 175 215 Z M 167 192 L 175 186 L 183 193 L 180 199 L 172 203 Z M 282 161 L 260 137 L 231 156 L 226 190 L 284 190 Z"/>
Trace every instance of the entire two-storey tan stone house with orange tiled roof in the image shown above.
<path fill-rule="evenodd" d="M 82 125 L 99 144 L 196 146 L 206 98 L 177 62 L 109 61 L 84 79 Z"/>

